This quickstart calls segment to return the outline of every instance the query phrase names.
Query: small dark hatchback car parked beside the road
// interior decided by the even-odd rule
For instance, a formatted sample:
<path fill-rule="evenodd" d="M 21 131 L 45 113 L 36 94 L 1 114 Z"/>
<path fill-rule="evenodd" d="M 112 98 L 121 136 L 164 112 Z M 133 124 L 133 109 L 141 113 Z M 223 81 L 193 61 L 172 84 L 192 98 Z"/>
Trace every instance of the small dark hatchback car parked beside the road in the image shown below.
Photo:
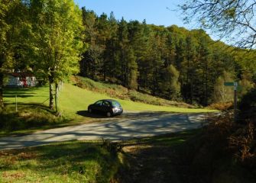
<path fill-rule="evenodd" d="M 104 99 L 96 101 L 88 106 L 89 113 L 105 114 L 107 117 L 122 114 L 123 109 L 118 101 L 112 99 Z"/>

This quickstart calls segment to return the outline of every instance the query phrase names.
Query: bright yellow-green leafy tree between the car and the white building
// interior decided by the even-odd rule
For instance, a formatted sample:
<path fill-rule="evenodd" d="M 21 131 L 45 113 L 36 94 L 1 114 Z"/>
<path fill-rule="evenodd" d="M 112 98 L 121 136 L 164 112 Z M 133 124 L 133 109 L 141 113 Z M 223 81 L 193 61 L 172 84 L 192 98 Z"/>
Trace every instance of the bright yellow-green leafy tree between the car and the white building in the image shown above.
<path fill-rule="evenodd" d="M 31 0 L 30 10 L 35 64 L 49 81 L 53 109 L 53 84 L 79 71 L 82 14 L 72 0 Z"/>

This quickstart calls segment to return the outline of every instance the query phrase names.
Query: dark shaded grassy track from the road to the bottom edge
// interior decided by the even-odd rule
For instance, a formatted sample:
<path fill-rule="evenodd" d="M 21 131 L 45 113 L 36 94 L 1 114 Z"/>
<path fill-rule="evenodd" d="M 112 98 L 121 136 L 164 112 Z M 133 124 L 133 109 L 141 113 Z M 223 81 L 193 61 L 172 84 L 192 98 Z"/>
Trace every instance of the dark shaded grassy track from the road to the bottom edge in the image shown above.
<path fill-rule="evenodd" d="M 125 142 L 126 166 L 119 169 L 118 180 L 122 182 L 173 182 L 180 183 L 177 171 L 177 149 L 199 133 L 187 130 L 179 133 L 147 137 Z"/>

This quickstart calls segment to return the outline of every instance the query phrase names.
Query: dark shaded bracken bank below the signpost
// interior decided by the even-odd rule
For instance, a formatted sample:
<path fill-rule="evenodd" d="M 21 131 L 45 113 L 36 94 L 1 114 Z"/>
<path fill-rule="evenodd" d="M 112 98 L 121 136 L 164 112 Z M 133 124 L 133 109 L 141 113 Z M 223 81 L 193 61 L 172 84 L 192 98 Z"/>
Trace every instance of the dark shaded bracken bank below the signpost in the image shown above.
<path fill-rule="evenodd" d="M 235 124 L 231 113 L 213 118 L 179 152 L 191 175 L 184 182 L 255 182 L 255 137 L 254 124 Z"/>

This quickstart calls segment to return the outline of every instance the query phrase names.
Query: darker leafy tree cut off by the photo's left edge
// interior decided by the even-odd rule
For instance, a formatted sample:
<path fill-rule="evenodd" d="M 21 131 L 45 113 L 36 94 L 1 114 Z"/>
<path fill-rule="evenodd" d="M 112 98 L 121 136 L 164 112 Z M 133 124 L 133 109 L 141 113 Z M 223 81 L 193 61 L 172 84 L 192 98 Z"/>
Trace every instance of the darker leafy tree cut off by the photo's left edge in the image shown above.
<path fill-rule="evenodd" d="M 4 73 L 19 65 L 18 58 L 28 43 L 27 13 L 26 6 L 19 0 L 0 1 L 0 111 L 4 107 Z"/>

